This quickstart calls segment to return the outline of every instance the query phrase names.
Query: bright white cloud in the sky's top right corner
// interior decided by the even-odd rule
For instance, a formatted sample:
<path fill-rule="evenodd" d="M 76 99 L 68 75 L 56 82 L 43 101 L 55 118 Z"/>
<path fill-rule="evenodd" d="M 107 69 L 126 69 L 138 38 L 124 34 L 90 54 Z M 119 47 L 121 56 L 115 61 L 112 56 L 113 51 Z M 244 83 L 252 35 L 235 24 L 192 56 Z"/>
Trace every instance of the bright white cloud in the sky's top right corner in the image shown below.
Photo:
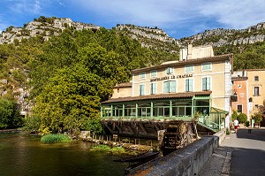
<path fill-rule="evenodd" d="M 204 16 L 214 17 L 230 28 L 246 28 L 265 20 L 263 0 L 208 1 L 200 10 Z"/>

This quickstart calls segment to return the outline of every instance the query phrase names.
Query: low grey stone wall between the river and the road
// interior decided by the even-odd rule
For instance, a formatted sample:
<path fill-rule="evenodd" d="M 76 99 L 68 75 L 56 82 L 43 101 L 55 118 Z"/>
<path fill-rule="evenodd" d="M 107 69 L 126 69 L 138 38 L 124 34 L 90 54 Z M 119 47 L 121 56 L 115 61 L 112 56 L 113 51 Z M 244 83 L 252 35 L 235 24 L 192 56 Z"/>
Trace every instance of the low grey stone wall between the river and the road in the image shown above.
<path fill-rule="evenodd" d="M 129 175 L 198 175 L 224 137 L 224 129 L 213 136 L 202 137 L 184 149 L 178 149 L 165 157 L 134 168 Z"/>

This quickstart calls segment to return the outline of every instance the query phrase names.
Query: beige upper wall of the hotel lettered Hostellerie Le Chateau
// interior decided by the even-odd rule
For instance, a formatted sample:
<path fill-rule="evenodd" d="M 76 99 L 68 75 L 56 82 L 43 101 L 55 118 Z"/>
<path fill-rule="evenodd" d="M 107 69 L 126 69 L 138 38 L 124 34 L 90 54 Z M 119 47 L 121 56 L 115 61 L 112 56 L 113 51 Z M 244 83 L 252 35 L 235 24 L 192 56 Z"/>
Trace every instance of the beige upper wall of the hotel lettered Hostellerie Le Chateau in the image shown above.
<path fill-rule="evenodd" d="M 232 55 L 205 57 L 133 70 L 132 96 L 211 90 L 212 106 L 231 111 L 231 58 Z M 170 69 L 171 73 L 168 72 Z M 206 78 L 209 82 L 205 89 L 203 84 Z M 187 88 L 188 80 L 191 80 L 190 88 Z M 165 90 L 169 81 L 175 82 L 170 92 Z M 152 90 L 153 84 L 155 92 Z"/>

